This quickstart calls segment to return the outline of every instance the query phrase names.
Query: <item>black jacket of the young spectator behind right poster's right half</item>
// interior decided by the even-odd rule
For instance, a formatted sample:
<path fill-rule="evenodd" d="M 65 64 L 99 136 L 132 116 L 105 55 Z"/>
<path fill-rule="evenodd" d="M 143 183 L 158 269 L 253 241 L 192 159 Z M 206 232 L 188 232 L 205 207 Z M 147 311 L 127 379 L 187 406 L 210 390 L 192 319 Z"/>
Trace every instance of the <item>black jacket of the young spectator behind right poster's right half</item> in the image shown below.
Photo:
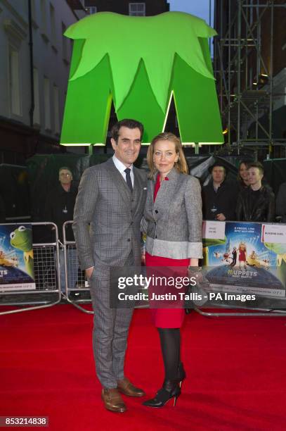
<path fill-rule="evenodd" d="M 269 187 L 259 189 L 259 198 L 252 205 L 252 189 L 242 190 L 236 207 L 238 221 L 272 222 L 275 220 L 275 196 Z"/>

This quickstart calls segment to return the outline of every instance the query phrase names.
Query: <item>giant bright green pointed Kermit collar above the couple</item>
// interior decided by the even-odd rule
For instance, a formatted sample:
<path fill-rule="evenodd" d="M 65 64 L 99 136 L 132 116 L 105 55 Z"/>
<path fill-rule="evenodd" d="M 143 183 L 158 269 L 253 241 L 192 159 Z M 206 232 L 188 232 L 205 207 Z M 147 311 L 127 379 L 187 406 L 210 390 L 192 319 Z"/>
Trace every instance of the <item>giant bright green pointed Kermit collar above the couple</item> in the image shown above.
<path fill-rule="evenodd" d="M 115 92 L 113 98 L 118 110 L 143 61 L 155 99 L 165 112 L 175 55 L 197 73 L 214 79 L 204 60 L 199 39 L 214 35 L 215 30 L 204 20 L 183 12 L 148 17 L 94 13 L 65 32 L 70 39 L 85 39 L 81 59 L 70 80 L 89 73 L 108 54 Z"/>

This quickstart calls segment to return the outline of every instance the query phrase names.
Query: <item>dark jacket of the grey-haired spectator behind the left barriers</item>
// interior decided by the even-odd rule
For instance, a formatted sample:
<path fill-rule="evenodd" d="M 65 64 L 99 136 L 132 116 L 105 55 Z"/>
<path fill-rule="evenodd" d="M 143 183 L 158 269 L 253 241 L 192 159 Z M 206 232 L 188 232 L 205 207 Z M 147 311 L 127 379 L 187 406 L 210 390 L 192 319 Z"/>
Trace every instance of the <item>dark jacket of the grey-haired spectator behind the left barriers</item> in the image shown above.
<path fill-rule="evenodd" d="M 61 242 L 63 242 L 63 223 L 73 219 L 76 197 L 76 187 L 71 185 L 70 192 L 65 192 L 60 184 L 52 189 L 46 197 L 44 219 L 58 226 L 58 237 Z M 67 241 L 74 241 L 71 224 L 68 225 L 65 232 Z"/>

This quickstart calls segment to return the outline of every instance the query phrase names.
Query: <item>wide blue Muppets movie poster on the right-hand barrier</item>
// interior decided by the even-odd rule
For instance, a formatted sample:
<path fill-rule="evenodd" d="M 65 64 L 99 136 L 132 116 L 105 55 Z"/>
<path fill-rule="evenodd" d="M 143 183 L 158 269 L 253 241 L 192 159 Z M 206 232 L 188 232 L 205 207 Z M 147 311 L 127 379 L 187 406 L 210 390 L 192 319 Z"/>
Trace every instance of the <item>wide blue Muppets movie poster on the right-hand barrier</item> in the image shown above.
<path fill-rule="evenodd" d="M 285 299 L 286 225 L 205 221 L 203 238 L 212 290 Z"/>

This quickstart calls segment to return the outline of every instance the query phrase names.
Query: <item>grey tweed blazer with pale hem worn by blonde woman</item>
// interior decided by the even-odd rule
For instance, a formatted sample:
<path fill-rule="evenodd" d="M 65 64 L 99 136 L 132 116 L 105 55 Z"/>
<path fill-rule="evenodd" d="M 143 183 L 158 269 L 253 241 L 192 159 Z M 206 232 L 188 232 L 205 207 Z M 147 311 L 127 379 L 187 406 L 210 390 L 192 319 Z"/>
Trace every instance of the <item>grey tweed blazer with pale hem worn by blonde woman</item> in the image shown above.
<path fill-rule="evenodd" d="M 161 183 L 153 203 L 155 181 L 148 194 L 141 230 L 152 256 L 174 259 L 202 258 L 202 197 L 200 182 L 173 168 Z"/>

